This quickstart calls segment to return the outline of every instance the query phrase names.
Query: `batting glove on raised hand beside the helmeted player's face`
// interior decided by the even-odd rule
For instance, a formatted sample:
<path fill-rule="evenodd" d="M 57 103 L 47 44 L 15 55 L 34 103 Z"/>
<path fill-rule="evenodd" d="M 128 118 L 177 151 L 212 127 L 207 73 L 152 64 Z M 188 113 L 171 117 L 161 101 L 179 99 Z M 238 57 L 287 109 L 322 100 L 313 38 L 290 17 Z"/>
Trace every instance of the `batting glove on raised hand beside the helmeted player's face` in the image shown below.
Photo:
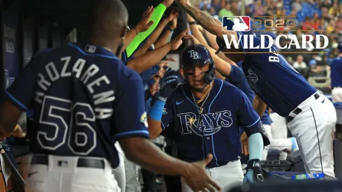
<path fill-rule="evenodd" d="M 165 78 L 163 84 L 161 84 L 161 89 L 159 90 L 156 98 L 160 101 L 165 102 L 169 96 L 172 95 L 174 89 L 176 89 L 178 85 L 178 76 L 170 75 Z"/>

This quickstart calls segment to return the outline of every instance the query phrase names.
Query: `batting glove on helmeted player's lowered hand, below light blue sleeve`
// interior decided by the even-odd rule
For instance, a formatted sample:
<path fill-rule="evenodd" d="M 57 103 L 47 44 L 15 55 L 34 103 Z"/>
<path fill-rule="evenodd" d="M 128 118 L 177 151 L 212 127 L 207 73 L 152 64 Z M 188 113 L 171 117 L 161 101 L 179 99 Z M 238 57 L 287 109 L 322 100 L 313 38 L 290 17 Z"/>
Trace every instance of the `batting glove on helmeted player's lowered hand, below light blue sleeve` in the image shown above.
<path fill-rule="evenodd" d="M 247 163 L 247 173 L 244 177 L 244 184 L 255 184 L 260 182 L 264 182 L 261 161 L 259 159 L 251 159 Z"/>

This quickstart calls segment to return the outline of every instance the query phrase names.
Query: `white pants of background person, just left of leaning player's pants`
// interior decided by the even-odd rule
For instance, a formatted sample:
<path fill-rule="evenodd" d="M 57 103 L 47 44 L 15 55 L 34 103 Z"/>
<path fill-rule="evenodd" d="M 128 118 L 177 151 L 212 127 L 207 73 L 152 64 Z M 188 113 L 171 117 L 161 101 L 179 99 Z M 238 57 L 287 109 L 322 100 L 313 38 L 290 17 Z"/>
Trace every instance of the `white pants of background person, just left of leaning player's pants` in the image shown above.
<path fill-rule="evenodd" d="M 281 117 L 276 112 L 272 112 L 269 114 L 269 117 L 272 119 L 272 138 L 273 139 L 286 139 L 288 138 L 288 124 L 286 123 L 286 118 Z M 286 160 L 288 157 L 287 152 L 279 152 L 279 159 Z"/>

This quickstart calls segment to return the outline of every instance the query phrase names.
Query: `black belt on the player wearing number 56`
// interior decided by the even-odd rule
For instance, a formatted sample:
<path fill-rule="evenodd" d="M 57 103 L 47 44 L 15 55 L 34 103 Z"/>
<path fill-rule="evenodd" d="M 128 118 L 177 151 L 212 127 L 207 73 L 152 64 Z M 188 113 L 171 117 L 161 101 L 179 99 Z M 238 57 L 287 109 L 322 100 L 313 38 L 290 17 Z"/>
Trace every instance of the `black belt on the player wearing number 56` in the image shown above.
<path fill-rule="evenodd" d="M 65 163 L 68 161 L 58 161 L 58 165 L 63 167 Z M 31 160 L 31 164 L 39 164 L 39 165 L 49 165 L 49 158 L 48 156 L 33 156 Z M 103 159 L 96 159 L 96 158 L 78 158 L 77 161 L 77 168 L 98 168 L 98 169 L 105 169 L 105 161 Z"/>

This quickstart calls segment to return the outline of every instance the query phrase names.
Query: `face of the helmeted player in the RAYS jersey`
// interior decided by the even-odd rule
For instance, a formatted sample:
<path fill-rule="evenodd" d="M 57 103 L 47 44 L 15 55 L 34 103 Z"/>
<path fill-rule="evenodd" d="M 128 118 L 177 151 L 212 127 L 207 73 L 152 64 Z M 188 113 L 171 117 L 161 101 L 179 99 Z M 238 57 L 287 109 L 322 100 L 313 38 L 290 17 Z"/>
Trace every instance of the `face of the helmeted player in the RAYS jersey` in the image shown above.
<path fill-rule="evenodd" d="M 202 91 L 207 87 L 208 84 L 205 83 L 205 75 L 209 71 L 209 64 L 185 67 L 183 70 L 186 80 L 193 90 Z"/>

